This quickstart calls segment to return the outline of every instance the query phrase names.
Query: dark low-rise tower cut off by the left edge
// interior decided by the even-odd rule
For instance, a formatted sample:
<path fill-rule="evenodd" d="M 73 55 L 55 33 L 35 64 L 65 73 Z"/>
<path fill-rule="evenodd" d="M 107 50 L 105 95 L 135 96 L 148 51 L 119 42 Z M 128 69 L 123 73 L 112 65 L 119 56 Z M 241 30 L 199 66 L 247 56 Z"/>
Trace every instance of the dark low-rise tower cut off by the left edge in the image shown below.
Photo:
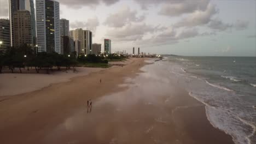
<path fill-rule="evenodd" d="M 0 19 L 0 51 L 5 51 L 10 46 L 10 21 Z"/>

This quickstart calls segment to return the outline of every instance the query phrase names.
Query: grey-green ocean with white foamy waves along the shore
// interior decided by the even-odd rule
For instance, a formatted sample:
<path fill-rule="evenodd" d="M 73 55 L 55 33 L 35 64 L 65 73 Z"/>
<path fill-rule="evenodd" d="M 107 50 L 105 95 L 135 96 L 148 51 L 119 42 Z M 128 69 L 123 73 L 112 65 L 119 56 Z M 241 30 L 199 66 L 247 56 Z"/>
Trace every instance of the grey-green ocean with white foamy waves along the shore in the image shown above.
<path fill-rule="evenodd" d="M 256 143 L 256 57 L 165 57 L 156 62 L 206 105 L 211 124 L 235 143 Z"/>

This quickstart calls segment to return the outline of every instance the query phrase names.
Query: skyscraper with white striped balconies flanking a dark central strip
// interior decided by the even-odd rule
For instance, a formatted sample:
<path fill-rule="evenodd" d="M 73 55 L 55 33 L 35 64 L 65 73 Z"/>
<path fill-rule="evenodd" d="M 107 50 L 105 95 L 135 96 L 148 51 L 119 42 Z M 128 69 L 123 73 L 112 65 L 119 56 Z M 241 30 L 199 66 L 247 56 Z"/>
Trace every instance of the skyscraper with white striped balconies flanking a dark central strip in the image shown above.
<path fill-rule="evenodd" d="M 61 53 L 60 3 L 54 0 L 36 0 L 38 52 Z"/>

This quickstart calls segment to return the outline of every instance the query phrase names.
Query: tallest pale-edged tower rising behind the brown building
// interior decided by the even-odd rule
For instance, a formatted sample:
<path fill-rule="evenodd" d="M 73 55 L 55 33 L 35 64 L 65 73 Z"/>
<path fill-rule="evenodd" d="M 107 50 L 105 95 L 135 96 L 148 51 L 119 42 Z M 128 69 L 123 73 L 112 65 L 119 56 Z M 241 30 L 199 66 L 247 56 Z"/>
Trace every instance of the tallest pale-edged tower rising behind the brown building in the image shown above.
<path fill-rule="evenodd" d="M 10 41 L 11 46 L 14 45 L 14 13 L 18 10 L 28 10 L 31 14 L 31 40 L 32 44 L 36 45 L 36 19 L 34 11 L 34 1 L 33 0 L 9 0 L 9 19 L 10 19 Z"/>

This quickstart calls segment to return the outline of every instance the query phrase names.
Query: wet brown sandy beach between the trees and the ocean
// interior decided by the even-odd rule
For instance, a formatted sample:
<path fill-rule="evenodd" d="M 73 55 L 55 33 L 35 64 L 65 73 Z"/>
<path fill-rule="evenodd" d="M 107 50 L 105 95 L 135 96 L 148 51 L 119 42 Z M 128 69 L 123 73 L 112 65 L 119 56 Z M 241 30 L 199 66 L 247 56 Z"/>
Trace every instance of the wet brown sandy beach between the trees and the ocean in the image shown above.
<path fill-rule="evenodd" d="M 159 65 L 153 63 L 132 58 L 124 67 L 59 81 L 42 77 L 48 81 L 37 89 L 20 81 L 1 86 L 7 95 L 0 97 L 1 143 L 234 143 L 208 121 L 205 104 L 176 80 L 159 77 L 165 71 L 153 70 Z"/>

